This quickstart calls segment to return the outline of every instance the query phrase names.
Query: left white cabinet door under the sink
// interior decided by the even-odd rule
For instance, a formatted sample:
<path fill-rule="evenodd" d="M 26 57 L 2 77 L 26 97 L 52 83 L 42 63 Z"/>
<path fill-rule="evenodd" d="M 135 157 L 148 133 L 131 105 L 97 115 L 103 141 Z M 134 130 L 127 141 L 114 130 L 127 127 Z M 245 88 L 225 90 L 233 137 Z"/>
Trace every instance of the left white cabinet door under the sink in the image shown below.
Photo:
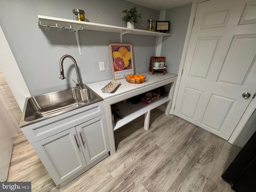
<path fill-rule="evenodd" d="M 87 165 L 74 127 L 32 146 L 55 184 L 63 182 Z"/>

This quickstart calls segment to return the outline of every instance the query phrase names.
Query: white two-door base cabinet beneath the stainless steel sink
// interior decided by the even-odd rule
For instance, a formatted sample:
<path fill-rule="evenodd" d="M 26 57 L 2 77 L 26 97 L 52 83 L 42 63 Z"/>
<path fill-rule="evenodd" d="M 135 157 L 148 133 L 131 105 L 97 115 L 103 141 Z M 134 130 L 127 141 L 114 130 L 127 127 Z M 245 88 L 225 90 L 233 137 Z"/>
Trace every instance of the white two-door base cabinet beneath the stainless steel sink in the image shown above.
<path fill-rule="evenodd" d="M 64 186 L 106 158 L 110 147 L 103 101 L 56 117 L 22 131 L 55 184 Z"/>

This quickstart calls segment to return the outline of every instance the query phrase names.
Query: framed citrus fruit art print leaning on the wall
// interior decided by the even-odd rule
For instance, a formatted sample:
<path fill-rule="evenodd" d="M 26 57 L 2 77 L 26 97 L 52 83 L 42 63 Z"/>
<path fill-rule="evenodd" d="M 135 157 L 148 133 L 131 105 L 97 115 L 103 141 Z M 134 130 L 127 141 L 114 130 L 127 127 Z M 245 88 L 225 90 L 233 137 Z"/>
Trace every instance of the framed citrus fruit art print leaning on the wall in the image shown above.
<path fill-rule="evenodd" d="M 113 79 L 125 78 L 124 75 L 134 73 L 134 62 L 132 44 L 129 43 L 109 43 L 110 60 L 112 66 Z"/>

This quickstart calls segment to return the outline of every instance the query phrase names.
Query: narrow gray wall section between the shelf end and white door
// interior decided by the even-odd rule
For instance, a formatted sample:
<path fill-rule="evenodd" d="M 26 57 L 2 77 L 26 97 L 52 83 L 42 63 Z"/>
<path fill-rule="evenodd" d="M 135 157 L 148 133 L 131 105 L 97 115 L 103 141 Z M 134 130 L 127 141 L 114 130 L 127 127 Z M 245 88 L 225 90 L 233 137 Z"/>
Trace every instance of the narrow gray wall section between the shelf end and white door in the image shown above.
<path fill-rule="evenodd" d="M 191 6 L 187 4 L 166 10 L 165 19 L 170 21 L 172 36 L 163 37 L 161 56 L 166 57 L 168 73 L 178 74 Z"/>

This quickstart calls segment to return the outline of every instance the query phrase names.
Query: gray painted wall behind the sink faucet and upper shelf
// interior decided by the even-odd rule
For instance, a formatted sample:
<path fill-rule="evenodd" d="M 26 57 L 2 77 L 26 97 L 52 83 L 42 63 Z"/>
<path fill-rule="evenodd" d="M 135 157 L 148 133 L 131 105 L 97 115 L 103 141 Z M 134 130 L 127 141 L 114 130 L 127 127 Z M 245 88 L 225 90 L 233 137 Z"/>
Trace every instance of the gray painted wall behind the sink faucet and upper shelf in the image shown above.
<path fill-rule="evenodd" d="M 85 11 L 87 21 L 126 27 L 122 10 L 134 4 L 123 0 L 1 0 L 0 25 L 32 96 L 74 87 L 76 73 L 70 59 L 64 61 L 65 80 L 60 80 L 59 61 L 72 55 L 82 81 L 86 83 L 112 79 L 109 42 L 120 42 L 119 34 L 83 30 L 79 32 L 82 57 L 79 56 L 73 32 L 56 28 L 44 30 L 37 26 L 37 15 L 74 19 L 72 9 Z M 137 6 L 142 19 L 135 28 L 146 30 L 149 18 L 158 19 L 159 12 Z M 133 45 L 135 72 L 148 71 L 149 60 L 155 56 L 155 38 L 124 35 L 123 42 Z M 98 62 L 105 62 L 100 72 Z"/>

